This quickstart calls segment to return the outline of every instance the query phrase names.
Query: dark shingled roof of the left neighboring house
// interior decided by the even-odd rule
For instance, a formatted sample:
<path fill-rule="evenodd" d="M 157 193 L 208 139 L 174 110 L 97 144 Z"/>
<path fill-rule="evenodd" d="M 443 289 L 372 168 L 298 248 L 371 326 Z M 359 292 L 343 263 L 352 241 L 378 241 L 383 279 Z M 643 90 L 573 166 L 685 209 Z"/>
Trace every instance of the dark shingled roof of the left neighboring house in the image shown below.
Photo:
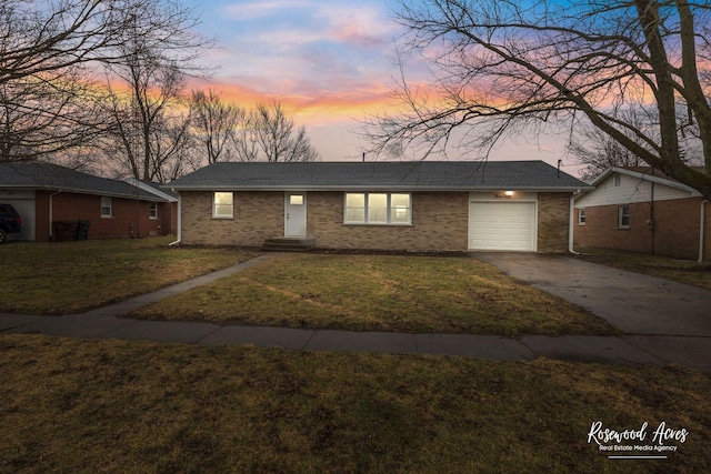
<path fill-rule="evenodd" d="M 163 201 L 119 180 L 99 178 L 52 163 L 0 163 L 0 188 L 49 189 L 84 194 Z"/>

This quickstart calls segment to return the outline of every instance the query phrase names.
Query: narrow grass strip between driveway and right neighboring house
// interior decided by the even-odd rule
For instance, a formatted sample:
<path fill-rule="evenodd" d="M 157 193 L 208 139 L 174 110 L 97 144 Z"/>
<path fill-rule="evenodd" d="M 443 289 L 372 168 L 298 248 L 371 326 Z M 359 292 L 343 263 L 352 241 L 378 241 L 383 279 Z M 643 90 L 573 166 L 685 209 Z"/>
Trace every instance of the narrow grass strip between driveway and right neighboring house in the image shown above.
<path fill-rule="evenodd" d="M 577 256 L 601 265 L 711 290 L 711 264 L 643 253 L 585 249 Z"/>

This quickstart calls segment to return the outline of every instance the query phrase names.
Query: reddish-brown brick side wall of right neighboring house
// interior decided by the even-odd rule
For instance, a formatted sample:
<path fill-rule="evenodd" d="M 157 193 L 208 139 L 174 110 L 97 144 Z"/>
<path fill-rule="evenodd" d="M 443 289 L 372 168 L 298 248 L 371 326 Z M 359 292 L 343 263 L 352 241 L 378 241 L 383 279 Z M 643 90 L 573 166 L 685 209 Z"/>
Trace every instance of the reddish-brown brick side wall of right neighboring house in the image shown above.
<path fill-rule="evenodd" d="M 701 198 L 655 202 L 653 232 L 647 224 L 651 215 L 649 202 L 630 204 L 630 229 L 618 229 L 618 205 L 587 208 L 585 225 L 575 225 L 574 229 L 575 246 L 697 260 L 700 204 Z M 707 249 L 711 249 L 710 218 L 711 210 L 707 209 Z"/>

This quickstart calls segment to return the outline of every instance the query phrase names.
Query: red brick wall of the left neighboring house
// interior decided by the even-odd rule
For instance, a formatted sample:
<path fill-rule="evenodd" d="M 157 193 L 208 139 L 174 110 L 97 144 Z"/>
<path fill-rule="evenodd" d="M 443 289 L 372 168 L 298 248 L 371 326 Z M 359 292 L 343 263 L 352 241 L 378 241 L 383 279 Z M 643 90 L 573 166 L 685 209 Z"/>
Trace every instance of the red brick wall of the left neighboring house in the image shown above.
<path fill-rule="evenodd" d="M 177 205 L 158 203 L 158 218 L 150 218 L 150 202 L 111 198 L 112 216 L 101 216 L 101 196 L 72 192 L 36 192 L 36 240 L 50 239 L 50 194 L 52 221 L 90 221 L 89 239 L 142 238 L 167 235 L 177 231 Z M 54 235 L 57 238 L 57 235 Z"/>

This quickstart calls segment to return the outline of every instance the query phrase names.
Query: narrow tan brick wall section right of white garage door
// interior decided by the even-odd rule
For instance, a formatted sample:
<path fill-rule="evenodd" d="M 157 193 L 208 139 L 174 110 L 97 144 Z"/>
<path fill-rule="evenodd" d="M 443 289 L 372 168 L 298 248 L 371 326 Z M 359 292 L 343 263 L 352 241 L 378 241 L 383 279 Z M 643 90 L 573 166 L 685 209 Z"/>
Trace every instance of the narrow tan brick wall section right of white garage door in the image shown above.
<path fill-rule="evenodd" d="M 541 192 L 538 194 L 538 251 L 568 252 L 570 194 Z"/>

